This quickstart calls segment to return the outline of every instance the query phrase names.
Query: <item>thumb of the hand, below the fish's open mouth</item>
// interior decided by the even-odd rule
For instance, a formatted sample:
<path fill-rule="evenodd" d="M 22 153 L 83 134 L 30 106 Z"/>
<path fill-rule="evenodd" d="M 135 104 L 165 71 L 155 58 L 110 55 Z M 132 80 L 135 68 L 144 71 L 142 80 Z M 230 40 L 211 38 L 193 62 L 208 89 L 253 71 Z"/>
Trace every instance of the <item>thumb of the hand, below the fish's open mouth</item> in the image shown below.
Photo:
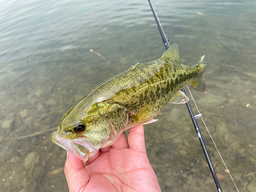
<path fill-rule="evenodd" d="M 89 181 L 87 168 L 80 159 L 69 152 L 67 152 L 64 171 L 69 185 L 69 191 L 76 192 L 85 189 Z"/>

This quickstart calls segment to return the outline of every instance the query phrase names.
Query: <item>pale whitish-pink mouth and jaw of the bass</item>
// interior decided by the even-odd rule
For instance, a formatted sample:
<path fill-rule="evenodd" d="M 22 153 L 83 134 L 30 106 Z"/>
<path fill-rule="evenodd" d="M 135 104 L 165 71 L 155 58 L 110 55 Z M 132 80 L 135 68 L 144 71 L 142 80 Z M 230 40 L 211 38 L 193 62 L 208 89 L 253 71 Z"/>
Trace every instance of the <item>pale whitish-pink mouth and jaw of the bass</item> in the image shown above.
<path fill-rule="evenodd" d="M 93 147 L 92 143 L 83 137 L 67 139 L 65 137 L 61 137 L 56 131 L 51 134 L 51 140 L 56 145 L 81 159 L 83 163 L 91 160 L 98 151 Z"/>

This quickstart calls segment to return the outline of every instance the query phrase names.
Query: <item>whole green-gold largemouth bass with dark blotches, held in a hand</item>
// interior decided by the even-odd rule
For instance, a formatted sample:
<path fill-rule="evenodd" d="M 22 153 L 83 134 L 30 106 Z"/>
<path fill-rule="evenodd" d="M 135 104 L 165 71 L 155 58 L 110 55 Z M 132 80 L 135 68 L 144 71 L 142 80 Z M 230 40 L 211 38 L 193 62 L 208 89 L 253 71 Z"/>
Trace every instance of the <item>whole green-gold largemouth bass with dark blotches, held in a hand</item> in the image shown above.
<path fill-rule="evenodd" d="M 173 44 L 160 59 L 137 63 L 102 82 L 67 112 L 51 135 L 55 144 L 80 158 L 91 160 L 100 148 L 113 144 L 133 126 L 156 121 L 170 103 L 186 103 L 180 90 L 189 84 L 207 91 L 202 74 L 208 63 L 180 63 L 179 48 Z"/>

